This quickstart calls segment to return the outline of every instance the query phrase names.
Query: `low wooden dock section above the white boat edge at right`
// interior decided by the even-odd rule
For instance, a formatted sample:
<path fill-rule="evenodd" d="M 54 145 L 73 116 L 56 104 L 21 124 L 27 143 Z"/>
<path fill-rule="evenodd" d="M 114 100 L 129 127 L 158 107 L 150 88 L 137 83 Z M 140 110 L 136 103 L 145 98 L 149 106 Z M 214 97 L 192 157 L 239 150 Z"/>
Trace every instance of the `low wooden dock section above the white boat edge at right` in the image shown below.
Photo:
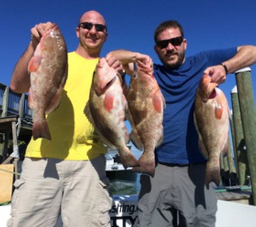
<path fill-rule="evenodd" d="M 252 188 L 250 186 L 230 186 L 215 190 L 218 200 L 252 204 Z"/>

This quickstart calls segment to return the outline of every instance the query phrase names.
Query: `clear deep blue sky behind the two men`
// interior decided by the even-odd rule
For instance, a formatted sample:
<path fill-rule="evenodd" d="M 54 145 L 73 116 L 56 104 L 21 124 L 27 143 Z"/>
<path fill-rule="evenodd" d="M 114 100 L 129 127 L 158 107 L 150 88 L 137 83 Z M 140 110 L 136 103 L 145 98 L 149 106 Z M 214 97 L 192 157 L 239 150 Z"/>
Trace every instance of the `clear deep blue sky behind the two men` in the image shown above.
<path fill-rule="evenodd" d="M 75 26 L 88 10 L 105 17 L 109 36 L 102 56 L 113 49 L 129 49 L 148 54 L 159 62 L 154 52 L 153 34 L 163 20 L 176 19 L 184 27 L 188 40 L 186 56 L 207 49 L 256 45 L 256 1 L 253 0 L 0 0 L 0 82 L 9 85 L 13 67 L 30 39 L 30 29 L 40 22 L 56 22 L 67 42 L 68 51 L 77 48 Z M 256 66 L 252 69 L 254 103 Z M 220 86 L 230 103 L 236 85 L 230 74 Z"/>

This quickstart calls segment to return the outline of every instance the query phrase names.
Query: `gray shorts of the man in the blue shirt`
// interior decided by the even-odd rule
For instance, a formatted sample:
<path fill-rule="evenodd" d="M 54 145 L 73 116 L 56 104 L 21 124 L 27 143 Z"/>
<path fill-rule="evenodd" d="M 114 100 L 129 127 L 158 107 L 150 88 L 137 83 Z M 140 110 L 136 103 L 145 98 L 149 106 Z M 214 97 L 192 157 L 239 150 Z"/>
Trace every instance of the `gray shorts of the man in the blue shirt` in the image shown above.
<path fill-rule="evenodd" d="M 154 178 L 142 174 L 138 226 L 215 226 L 215 184 L 210 183 L 207 189 L 204 181 L 204 164 L 158 164 Z"/>

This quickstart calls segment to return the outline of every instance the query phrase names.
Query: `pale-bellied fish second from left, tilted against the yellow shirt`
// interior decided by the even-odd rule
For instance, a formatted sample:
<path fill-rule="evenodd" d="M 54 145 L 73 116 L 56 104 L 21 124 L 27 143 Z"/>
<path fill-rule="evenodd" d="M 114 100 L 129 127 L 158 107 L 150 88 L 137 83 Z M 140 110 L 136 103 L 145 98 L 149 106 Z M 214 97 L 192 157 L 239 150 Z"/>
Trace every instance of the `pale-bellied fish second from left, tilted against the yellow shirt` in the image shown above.
<path fill-rule="evenodd" d="M 121 76 L 108 65 L 105 58 L 101 58 L 94 71 L 85 115 L 102 143 L 117 148 L 125 168 L 139 165 L 126 145 L 130 140 L 124 123 L 126 111 L 127 101 L 123 95 Z"/>

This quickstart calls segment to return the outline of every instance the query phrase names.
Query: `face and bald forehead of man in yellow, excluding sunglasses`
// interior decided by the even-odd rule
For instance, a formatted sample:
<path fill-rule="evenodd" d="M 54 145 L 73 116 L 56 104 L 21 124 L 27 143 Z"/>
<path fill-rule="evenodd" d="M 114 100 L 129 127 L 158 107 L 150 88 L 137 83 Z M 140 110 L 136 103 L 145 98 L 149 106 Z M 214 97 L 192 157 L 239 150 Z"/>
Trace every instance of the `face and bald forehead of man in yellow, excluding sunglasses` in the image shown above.
<path fill-rule="evenodd" d="M 77 27 L 77 37 L 80 40 L 80 45 L 88 51 L 89 49 L 100 51 L 103 43 L 107 39 L 107 29 L 99 31 L 96 29 L 97 25 L 95 26 L 95 24 L 106 25 L 104 18 L 99 13 L 88 12 L 81 17 L 80 23 L 83 22 L 91 23 L 93 26 L 91 29 L 88 29 L 88 27 L 85 28 L 82 25 Z"/>

